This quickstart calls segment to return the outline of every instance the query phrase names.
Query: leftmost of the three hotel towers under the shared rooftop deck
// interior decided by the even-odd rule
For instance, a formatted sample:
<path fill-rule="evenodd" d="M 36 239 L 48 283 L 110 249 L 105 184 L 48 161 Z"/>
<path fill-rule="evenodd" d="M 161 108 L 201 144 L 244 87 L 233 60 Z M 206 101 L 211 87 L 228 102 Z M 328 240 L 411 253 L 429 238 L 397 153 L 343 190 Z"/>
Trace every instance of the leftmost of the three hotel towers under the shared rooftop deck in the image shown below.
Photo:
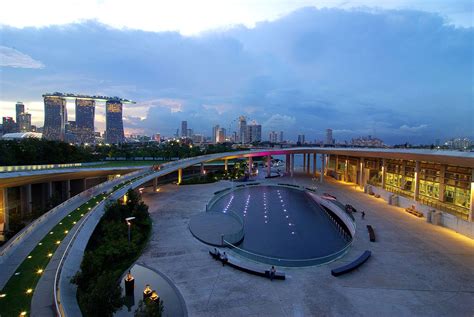
<path fill-rule="evenodd" d="M 43 136 L 47 140 L 63 141 L 67 121 L 66 99 L 52 95 L 43 95 L 43 97 Z"/>

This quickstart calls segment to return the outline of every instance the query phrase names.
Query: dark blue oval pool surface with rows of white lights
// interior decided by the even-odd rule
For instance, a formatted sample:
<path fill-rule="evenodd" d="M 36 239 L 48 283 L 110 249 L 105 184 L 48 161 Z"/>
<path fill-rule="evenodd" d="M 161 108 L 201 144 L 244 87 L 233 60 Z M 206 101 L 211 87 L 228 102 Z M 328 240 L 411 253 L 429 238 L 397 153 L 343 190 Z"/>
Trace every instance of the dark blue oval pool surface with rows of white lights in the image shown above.
<path fill-rule="evenodd" d="M 304 192 L 276 186 L 235 190 L 222 197 L 212 211 L 231 210 L 244 219 L 240 248 L 282 259 L 322 257 L 344 248 L 326 213 Z"/>

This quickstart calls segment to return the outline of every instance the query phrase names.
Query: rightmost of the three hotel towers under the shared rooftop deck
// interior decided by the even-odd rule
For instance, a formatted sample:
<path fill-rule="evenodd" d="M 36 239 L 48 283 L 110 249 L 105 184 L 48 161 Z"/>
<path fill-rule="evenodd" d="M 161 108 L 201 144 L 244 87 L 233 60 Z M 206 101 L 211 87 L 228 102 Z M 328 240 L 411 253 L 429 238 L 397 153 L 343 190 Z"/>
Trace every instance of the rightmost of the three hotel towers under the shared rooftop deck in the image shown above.
<path fill-rule="evenodd" d="M 105 142 L 122 143 L 124 141 L 122 102 L 110 99 L 105 103 Z"/>

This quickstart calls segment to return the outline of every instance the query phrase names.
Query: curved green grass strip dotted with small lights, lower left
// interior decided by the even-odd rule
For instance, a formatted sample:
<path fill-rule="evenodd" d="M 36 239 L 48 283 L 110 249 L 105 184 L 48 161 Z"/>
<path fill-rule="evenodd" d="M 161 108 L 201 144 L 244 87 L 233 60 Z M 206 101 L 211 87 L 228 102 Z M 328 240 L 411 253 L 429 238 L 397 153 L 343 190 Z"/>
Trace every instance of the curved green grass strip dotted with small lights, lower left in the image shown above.
<path fill-rule="evenodd" d="M 113 188 L 113 191 L 123 188 L 125 185 L 143 176 L 116 186 Z M 27 258 L 18 266 L 16 273 L 10 277 L 5 287 L 0 291 L 0 312 L 2 316 L 26 316 L 29 314 L 33 291 L 44 273 L 42 268 L 48 265 L 61 240 L 64 238 L 64 234 L 67 234 L 81 217 L 88 212 L 88 206 L 95 206 L 96 202 L 104 200 L 107 196 L 108 194 L 102 193 L 90 199 L 61 219 L 51 229 L 51 233 L 45 234 L 41 242 L 36 245 Z"/>

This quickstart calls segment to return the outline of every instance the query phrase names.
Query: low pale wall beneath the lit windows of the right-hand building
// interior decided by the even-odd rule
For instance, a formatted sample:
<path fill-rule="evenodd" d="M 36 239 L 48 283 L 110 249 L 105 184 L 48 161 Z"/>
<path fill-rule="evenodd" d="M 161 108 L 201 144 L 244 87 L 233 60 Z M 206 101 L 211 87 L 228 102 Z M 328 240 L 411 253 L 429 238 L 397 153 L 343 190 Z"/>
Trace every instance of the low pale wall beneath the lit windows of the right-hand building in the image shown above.
<path fill-rule="evenodd" d="M 385 200 L 387 203 L 389 201 L 389 197 L 393 194 L 389 191 L 386 191 L 380 187 L 372 186 L 372 185 L 367 185 L 368 187 L 372 189 L 372 191 L 375 194 L 380 195 L 379 199 Z M 369 192 L 369 191 L 367 191 Z M 432 210 L 438 211 L 441 213 L 441 225 L 443 227 L 452 229 L 456 231 L 457 233 L 460 233 L 462 235 L 465 235 L 471 239 L 474 239 L 474 222 L 468 222 L 462 219 L 457 218 L 454 215 L 451 215 L 450 213 L 447 213 L 442 210 L 437 210 L 433 207 L 423 205 L 419 202 L 414 201 L 413 199 L 409 199 L 406 197 L 398 196 L 398 204 L 397 206 L 402 207 L 402 208 L 408 208 L 411 207 L 412 205 L 416 206 L 416 209 L 419 210 L 420 212 L 423 213 L 423 216 L 426 218 L 428 213 Z"/>

